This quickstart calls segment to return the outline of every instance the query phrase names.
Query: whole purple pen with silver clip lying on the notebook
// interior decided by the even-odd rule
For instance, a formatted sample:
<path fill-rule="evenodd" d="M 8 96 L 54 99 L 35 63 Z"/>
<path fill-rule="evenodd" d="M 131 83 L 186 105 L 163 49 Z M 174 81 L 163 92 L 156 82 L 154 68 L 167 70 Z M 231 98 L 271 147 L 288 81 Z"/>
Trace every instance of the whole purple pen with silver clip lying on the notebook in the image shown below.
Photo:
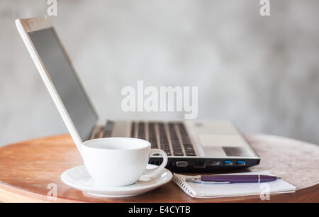
<path fill-rule="evenodd" d="M 230 184 L 230 183 L 258 183 L 272 182 L 281 179 L 280 177 L 267 176 L 262 174 L 222 174 L 222 175 L 199 175 L 186 178 L 186 182 L 198 184 Z"/>

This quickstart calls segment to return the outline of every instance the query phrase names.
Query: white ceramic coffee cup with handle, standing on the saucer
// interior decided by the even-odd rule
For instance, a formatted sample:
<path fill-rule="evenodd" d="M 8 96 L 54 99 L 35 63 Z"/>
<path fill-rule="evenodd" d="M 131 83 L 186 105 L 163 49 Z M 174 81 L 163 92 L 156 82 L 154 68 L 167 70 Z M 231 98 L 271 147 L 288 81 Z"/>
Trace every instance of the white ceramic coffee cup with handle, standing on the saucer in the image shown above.
<path fill-rule="evenodd" d="M 82 157 L 96 183 L 125 186 L 134 184 L 142 175 L 155 176 L 167 165 L 166 153 L 150 146 L 147 140 L 138 138 L 98 138 L 82 143 Z M 155 154 L 162 155 L 162 164 L 146 169 L 150 156 Z"/>

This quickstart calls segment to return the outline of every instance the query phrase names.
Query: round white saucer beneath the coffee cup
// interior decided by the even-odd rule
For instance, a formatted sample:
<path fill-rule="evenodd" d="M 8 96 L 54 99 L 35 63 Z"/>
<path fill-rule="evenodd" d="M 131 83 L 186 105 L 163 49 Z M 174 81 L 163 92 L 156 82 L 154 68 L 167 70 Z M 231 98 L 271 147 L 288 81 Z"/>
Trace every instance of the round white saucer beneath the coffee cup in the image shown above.
<path fill-rule="evenodd" d="M 147 165 L 147 169 L 152 169 L 157 167 L 156 165 Z M 62 182 L 74 187 L 74 189 L 79 189 L 88 194 L 94 196 L 108 196 L 108 197 L 124 197 L 124 196 L 135 196 L 138 194 L 143 194 L 152 189 L 166 184 L 172 179 L 173 175 L 168 169 L 162 169 L 158 173 L 157 177 L 152 177 L 150 181 L 143 182 L 138 181 L 135 184 L 131 184 L 123 187 L 108 187 L 96 184 L 94 180 L 87 172 L 86 167 L 79 166 L 68 169 L 61 174 Z"/>

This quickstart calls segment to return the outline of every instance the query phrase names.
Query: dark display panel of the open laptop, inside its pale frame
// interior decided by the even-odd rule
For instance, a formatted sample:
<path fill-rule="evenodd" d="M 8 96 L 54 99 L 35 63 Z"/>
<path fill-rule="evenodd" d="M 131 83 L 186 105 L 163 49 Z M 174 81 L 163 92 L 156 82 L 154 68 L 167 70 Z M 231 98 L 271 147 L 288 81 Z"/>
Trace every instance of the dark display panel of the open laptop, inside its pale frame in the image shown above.
<path fill-rule="evenodd" d="M 55 30 L 47 28 L 28 33 L 52 83 L 60 95 L 77 132 L 83 141 L 89 140 L 97 116 L 82 85 L 57 39 Z"/>

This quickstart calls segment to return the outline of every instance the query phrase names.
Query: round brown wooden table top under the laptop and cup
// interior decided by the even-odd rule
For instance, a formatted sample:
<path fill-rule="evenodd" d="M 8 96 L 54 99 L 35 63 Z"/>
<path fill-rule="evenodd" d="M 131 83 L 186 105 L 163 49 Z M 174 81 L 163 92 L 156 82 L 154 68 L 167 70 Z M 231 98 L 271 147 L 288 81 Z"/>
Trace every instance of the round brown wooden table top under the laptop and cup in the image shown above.
<path fill-rule="evenodd" d="M 319 202 L 319 146 L 272 135 L 250 135 L 247 139 L 262 160 L 245 171 L 268 170 L 298 188 L 296 193 L 271 195 L 270 202 Z M 174 182 L 139 196 L 89 196 L 60 179 L 66 169 L 79 165 L 83 162 L 69 135 L 6 145 L 0 148 L 0 201 L 262 202 L 259 196 L 194 199 Z"/>

